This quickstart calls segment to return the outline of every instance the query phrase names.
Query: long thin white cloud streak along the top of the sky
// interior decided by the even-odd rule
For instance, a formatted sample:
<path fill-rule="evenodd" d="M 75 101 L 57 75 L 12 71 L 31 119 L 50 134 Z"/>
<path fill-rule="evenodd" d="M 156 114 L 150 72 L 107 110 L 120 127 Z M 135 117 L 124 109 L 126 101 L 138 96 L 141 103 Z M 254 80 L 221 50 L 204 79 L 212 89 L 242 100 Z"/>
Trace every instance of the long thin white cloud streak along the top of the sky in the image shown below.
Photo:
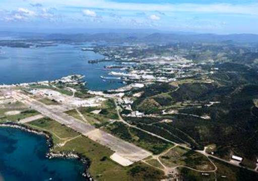
<path fill-rule="evenodd" d="M 15 0 L 10 0 L 15 1 Z M 160 11 L 160 12 L 192 12 L 192 13 L 220 13 L 220 14 L 246 14 L 258 15 L 258 3 L 253 4 L 229 4 L 229 3 L 213 3 L 213 4 L 151 4 L 151 3 L 119 3 L 110 0 L 70 0 L 59 1 L 53 3 L 52 0 L 37 0 L 38 3 L 49 5 L 66 5 L 66 6 L 81 6 L 87 8 L 127 10 L 127 11 Z M 110 7 L 110 8 L 107 8 Z"/>

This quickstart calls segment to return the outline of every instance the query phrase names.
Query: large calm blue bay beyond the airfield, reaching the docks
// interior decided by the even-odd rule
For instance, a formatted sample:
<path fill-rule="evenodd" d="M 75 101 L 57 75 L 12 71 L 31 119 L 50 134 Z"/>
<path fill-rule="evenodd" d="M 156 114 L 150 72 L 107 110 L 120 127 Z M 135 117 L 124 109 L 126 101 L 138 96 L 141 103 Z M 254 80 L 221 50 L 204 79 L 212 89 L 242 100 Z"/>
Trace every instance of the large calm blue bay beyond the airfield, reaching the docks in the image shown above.
<path fill-rule="evenodd" d="M 86 44 L 87 45 L 87 44 Z M 85 75 L 87 87 L 107 90 L 122 86 L 117 82 L 103 82 L 100 76 L 108 76 L 106 65 L 113 62 L 88 64 L 89 60 L 102 58 L 93 51 L 82 51 L 81 46 L 58 44 L 40 48 L 0 49 L 0 84 L 15 84 L 53 80 L 70 74 Z"/>

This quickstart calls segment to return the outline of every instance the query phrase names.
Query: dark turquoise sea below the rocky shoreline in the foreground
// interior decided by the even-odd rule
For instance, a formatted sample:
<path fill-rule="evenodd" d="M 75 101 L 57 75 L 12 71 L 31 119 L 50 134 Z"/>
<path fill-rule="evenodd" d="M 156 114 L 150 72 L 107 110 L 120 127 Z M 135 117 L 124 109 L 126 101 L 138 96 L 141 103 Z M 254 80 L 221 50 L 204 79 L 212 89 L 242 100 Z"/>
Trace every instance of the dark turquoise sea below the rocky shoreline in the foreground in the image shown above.
<path fill-rule="evenodd" d="M 84 165 L 74 159 L 47 159 L 43 136 L 0 128 L 0 180 L 84 180 Z"/>

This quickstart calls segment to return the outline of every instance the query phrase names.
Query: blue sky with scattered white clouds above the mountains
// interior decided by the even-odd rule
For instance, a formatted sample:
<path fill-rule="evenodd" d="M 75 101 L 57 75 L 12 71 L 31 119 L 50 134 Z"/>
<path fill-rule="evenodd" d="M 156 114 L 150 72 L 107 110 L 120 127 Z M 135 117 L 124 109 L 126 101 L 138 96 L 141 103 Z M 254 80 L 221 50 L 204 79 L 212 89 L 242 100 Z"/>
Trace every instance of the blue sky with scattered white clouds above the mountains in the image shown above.
<path fill-rule="evenodd" d="M 258 34 L 258 0 L 0 0 L 0 31 L 79 28 Z"/>

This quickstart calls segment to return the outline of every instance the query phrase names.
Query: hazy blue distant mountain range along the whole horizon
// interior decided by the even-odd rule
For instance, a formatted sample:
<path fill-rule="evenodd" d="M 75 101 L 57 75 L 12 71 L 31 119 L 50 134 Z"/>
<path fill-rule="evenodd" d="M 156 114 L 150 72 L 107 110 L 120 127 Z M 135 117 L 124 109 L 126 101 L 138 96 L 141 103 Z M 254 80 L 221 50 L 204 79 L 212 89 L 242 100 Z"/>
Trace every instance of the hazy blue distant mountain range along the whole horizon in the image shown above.
<path fill-rule="evenodd" d="M 154 30 L 153 30 L 154 31 Z M 29 33 L 29 32 L 0 32 L 2 36 L 19 36 L 28 39 L 66 40 L 66 41 L 107 41 L 107 42 L 227 42 L 227 43 L 258 43 L 258 34 L 197 34 L 197 33 L 163 33 L 145 30 L 124 30 L 100 33 Z"/>

